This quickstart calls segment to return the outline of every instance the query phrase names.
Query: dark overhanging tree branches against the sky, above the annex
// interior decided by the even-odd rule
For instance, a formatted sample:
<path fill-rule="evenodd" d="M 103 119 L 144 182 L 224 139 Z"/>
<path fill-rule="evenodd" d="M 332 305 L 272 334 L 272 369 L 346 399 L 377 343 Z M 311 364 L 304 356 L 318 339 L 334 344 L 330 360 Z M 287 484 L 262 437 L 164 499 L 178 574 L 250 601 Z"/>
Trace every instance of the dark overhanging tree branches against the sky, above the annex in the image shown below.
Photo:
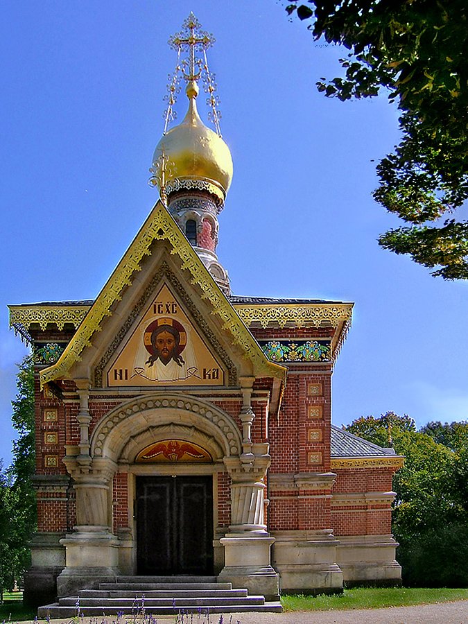
<path fill-rule="evenodd" d="M 468 21 L 465 0 L 299 0 L 289 15 L 315 40 L 343 45 L 344 76 L 318 82 L 328 97 L 376 96 L 401 111 L 401 141 L 377 165 L 374 198 L 410 225 L 379 244 L 445 279 L 468 278 L 468 222 L 453 211 L 468 198 Z"/>

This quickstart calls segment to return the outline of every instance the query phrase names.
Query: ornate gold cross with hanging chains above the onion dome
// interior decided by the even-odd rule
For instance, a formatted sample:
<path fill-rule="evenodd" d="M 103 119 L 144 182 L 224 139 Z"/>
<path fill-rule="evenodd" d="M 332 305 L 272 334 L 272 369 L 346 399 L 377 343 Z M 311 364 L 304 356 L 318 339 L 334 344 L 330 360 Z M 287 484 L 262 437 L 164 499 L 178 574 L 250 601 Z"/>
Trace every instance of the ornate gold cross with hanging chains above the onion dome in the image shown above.
<path fill-rule="evenodd" d="M 192 81 L 198 83 L 199 80 L 202 80 L 205 93 L 208 94 L 207 105 L 211 108 L 208 114 L 209 120 L 214 124 L 218 135 L 221 136 L 219 123 L 221 119 L 219 110 L 220 100 L 218 95 L 216 95 L 215 75 L 209 71 L 207 60 L 207 49 L 215 41 L 213 35 L 202 31 L 201 24 L 193 15 L 193 12 L 190 13 L 189 17 L 182 24 L 182 31 L 169 38 L 169 46 L 177 51 L 177 64 L 173 74 L 168 76 L 168 93 L 164 98 L 168 102 L 168 106 L 164 111 L 164 135 L 167 132 L 169 123 L 176 117 L 173 106 L 177 101 L 177 94 L 180 92 L 180 79 L 184 78 L 187 83 Z M 188 57 L 180 60 L 182 52 L 188 52 Z"/>

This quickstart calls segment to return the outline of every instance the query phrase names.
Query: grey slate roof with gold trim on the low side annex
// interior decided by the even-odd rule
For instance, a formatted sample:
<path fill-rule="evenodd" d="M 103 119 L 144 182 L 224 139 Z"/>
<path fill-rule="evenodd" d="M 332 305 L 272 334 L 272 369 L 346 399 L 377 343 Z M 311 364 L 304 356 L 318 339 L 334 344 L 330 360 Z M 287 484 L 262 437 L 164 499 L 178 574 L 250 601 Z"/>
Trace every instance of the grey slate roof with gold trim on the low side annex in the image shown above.
<path fill-rule="evenodd" d="M 345 429 L 331 425 L 331 467 L 401 467 L 395 449 L 379 447 Z"/>

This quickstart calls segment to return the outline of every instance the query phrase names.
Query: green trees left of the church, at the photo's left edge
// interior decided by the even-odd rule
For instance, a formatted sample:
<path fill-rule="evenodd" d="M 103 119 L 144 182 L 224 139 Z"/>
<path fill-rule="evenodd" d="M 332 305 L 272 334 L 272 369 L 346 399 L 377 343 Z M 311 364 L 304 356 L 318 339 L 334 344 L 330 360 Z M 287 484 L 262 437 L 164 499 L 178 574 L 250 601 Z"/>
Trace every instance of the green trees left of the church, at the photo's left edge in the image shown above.
<path fill-rule="evenodd" d="M 34 369 L 24 358 L 17 375 L 17 397 L 12 422 L 19 433 L 13 444 L 12 465 L 0 473 L 0 589 L 12 589 L 29 565 L 28 540 L 36 525 L 31 476 L 34 452 Z"/>

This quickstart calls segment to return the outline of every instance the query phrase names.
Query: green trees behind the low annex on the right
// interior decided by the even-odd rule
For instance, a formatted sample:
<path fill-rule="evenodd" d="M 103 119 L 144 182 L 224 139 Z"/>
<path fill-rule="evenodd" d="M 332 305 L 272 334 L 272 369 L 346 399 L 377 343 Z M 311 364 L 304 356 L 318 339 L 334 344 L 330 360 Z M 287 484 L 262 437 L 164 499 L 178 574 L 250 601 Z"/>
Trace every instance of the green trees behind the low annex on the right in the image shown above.
<path fill-rule="evenodd" d="M 467 423 L 433 422 L 416 431 L 413 419 L 388 412 L 379 418 L 358 418 L 347 431 L 383 447 L 391 435 L 395 452 L 406 458 L 393 480 L 397 496 L 392 514 L 404 582 L 413 587 L 466 587 Z"/>

